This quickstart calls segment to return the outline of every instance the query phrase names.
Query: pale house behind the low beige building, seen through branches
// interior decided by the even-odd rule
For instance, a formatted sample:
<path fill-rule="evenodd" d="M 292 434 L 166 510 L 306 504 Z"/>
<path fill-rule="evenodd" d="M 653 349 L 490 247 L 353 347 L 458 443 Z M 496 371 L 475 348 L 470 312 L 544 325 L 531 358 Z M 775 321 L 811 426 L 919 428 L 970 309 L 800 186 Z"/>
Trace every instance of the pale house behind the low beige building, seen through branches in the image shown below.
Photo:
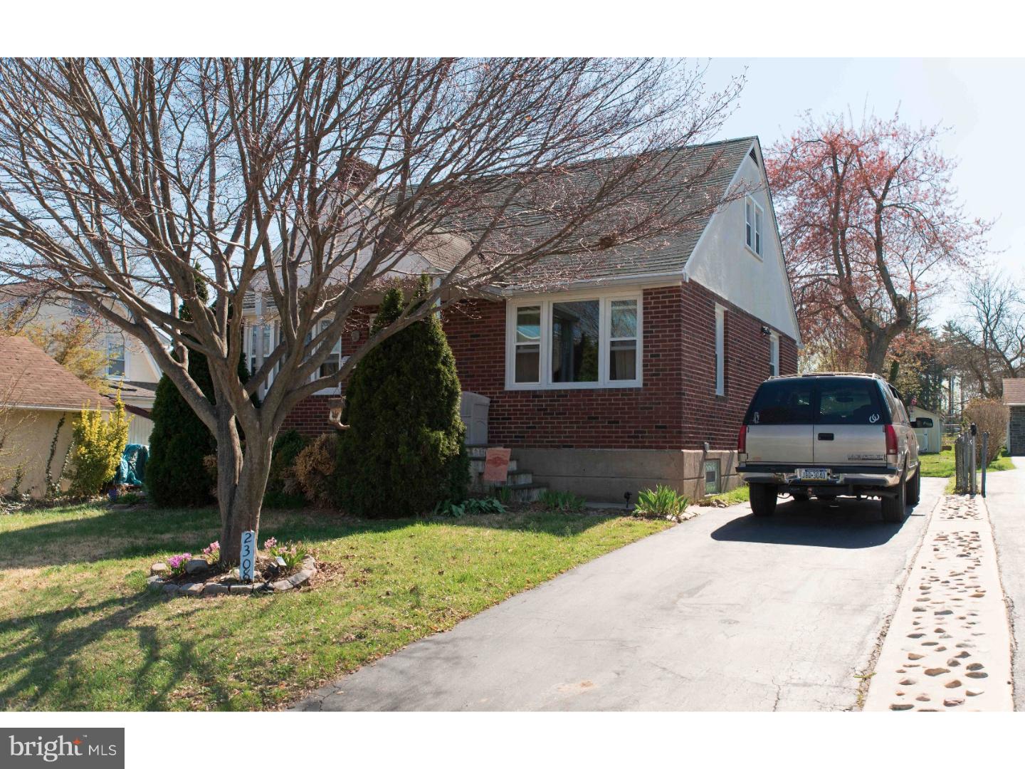
<path fill-rule="evenodd" d="M 34 296 L 40 296 L 33 301 Z M 112 391 L 121 391 L 125 410 L 132 415 L 128 443 L 149 445 L 153 421 L 150 419 L 153 401 L 160 381 L 160 368 L 150 351 L 136 339 L 105 322 L 84 302 L 56 294 L 41 294 L 37 284 L 24 282 L 0 286 L 0 311 L 32 302 L 28 325 L 57 326 L 85 319 L 96 324 L 93 347 L 108 356 L 105 372 Z"/>

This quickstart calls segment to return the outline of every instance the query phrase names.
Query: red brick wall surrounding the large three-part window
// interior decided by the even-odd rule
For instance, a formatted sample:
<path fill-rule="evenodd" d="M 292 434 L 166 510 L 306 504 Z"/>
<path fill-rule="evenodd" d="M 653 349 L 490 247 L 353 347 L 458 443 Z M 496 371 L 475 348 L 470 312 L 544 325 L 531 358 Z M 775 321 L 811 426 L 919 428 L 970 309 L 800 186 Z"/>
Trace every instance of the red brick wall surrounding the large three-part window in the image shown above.
<path fill-rule="evenodd" d="M 491 399 L 490 440 L 530 448 L 732 449 L 755 388 L 769 375 L 763 322 L 694 281 L 644 291 L 642 388 L 505 391 L 505 305 L 467 301 L 445 314 L 464 391 Z M 726 313 L 726 395 L 715 395 L 715 303 Z M 354 338 L 352 331 L 359 333 Z M 343 353 L 366 339 L 354 321 Z M 780 334 L 780 373 L 795 373 L 793 339 Z M 316 435 L 328 398 L 314 396 L 285 420 Z"/>

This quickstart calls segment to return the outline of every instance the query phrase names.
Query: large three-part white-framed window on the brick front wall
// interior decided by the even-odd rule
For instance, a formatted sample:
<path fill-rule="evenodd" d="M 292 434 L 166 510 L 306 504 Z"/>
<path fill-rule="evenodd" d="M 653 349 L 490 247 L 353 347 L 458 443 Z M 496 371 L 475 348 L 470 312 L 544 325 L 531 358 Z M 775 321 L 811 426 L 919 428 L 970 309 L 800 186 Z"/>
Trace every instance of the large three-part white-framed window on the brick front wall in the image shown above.
<path fill-rule="evenodd" d="M 640 387 L 641 315 L 639 293 L 510 300 L 506 388 Z"/>

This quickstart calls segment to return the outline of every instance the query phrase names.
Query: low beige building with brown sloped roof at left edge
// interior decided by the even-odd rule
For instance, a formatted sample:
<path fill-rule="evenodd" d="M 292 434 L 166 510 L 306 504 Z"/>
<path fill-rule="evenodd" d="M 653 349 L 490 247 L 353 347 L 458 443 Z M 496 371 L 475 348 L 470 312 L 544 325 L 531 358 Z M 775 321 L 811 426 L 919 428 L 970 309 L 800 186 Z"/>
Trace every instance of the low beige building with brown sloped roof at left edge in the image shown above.
<path fill-rule="evenodd" d="M 24 336 L 0 336 L 0 491 L 43 496 L 47 463 L 57 477 L 82 407 L 114 404 Z"/>

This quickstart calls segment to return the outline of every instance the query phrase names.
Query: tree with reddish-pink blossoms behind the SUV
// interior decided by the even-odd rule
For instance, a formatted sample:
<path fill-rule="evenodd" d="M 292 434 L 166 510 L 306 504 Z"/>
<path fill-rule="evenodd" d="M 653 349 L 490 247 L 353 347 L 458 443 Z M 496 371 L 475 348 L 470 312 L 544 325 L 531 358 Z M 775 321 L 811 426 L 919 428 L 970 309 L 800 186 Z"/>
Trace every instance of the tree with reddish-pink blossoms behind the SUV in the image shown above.
<path fill-rule="evenodd" d="M 937 137 L 898 116 L 860 127 L 809 117 L 766 160 L 802 336 L 854 330 L 864 371 L 884 373 L 947 269 L 985 247 L 989 226 L 965 214 Z"/>

